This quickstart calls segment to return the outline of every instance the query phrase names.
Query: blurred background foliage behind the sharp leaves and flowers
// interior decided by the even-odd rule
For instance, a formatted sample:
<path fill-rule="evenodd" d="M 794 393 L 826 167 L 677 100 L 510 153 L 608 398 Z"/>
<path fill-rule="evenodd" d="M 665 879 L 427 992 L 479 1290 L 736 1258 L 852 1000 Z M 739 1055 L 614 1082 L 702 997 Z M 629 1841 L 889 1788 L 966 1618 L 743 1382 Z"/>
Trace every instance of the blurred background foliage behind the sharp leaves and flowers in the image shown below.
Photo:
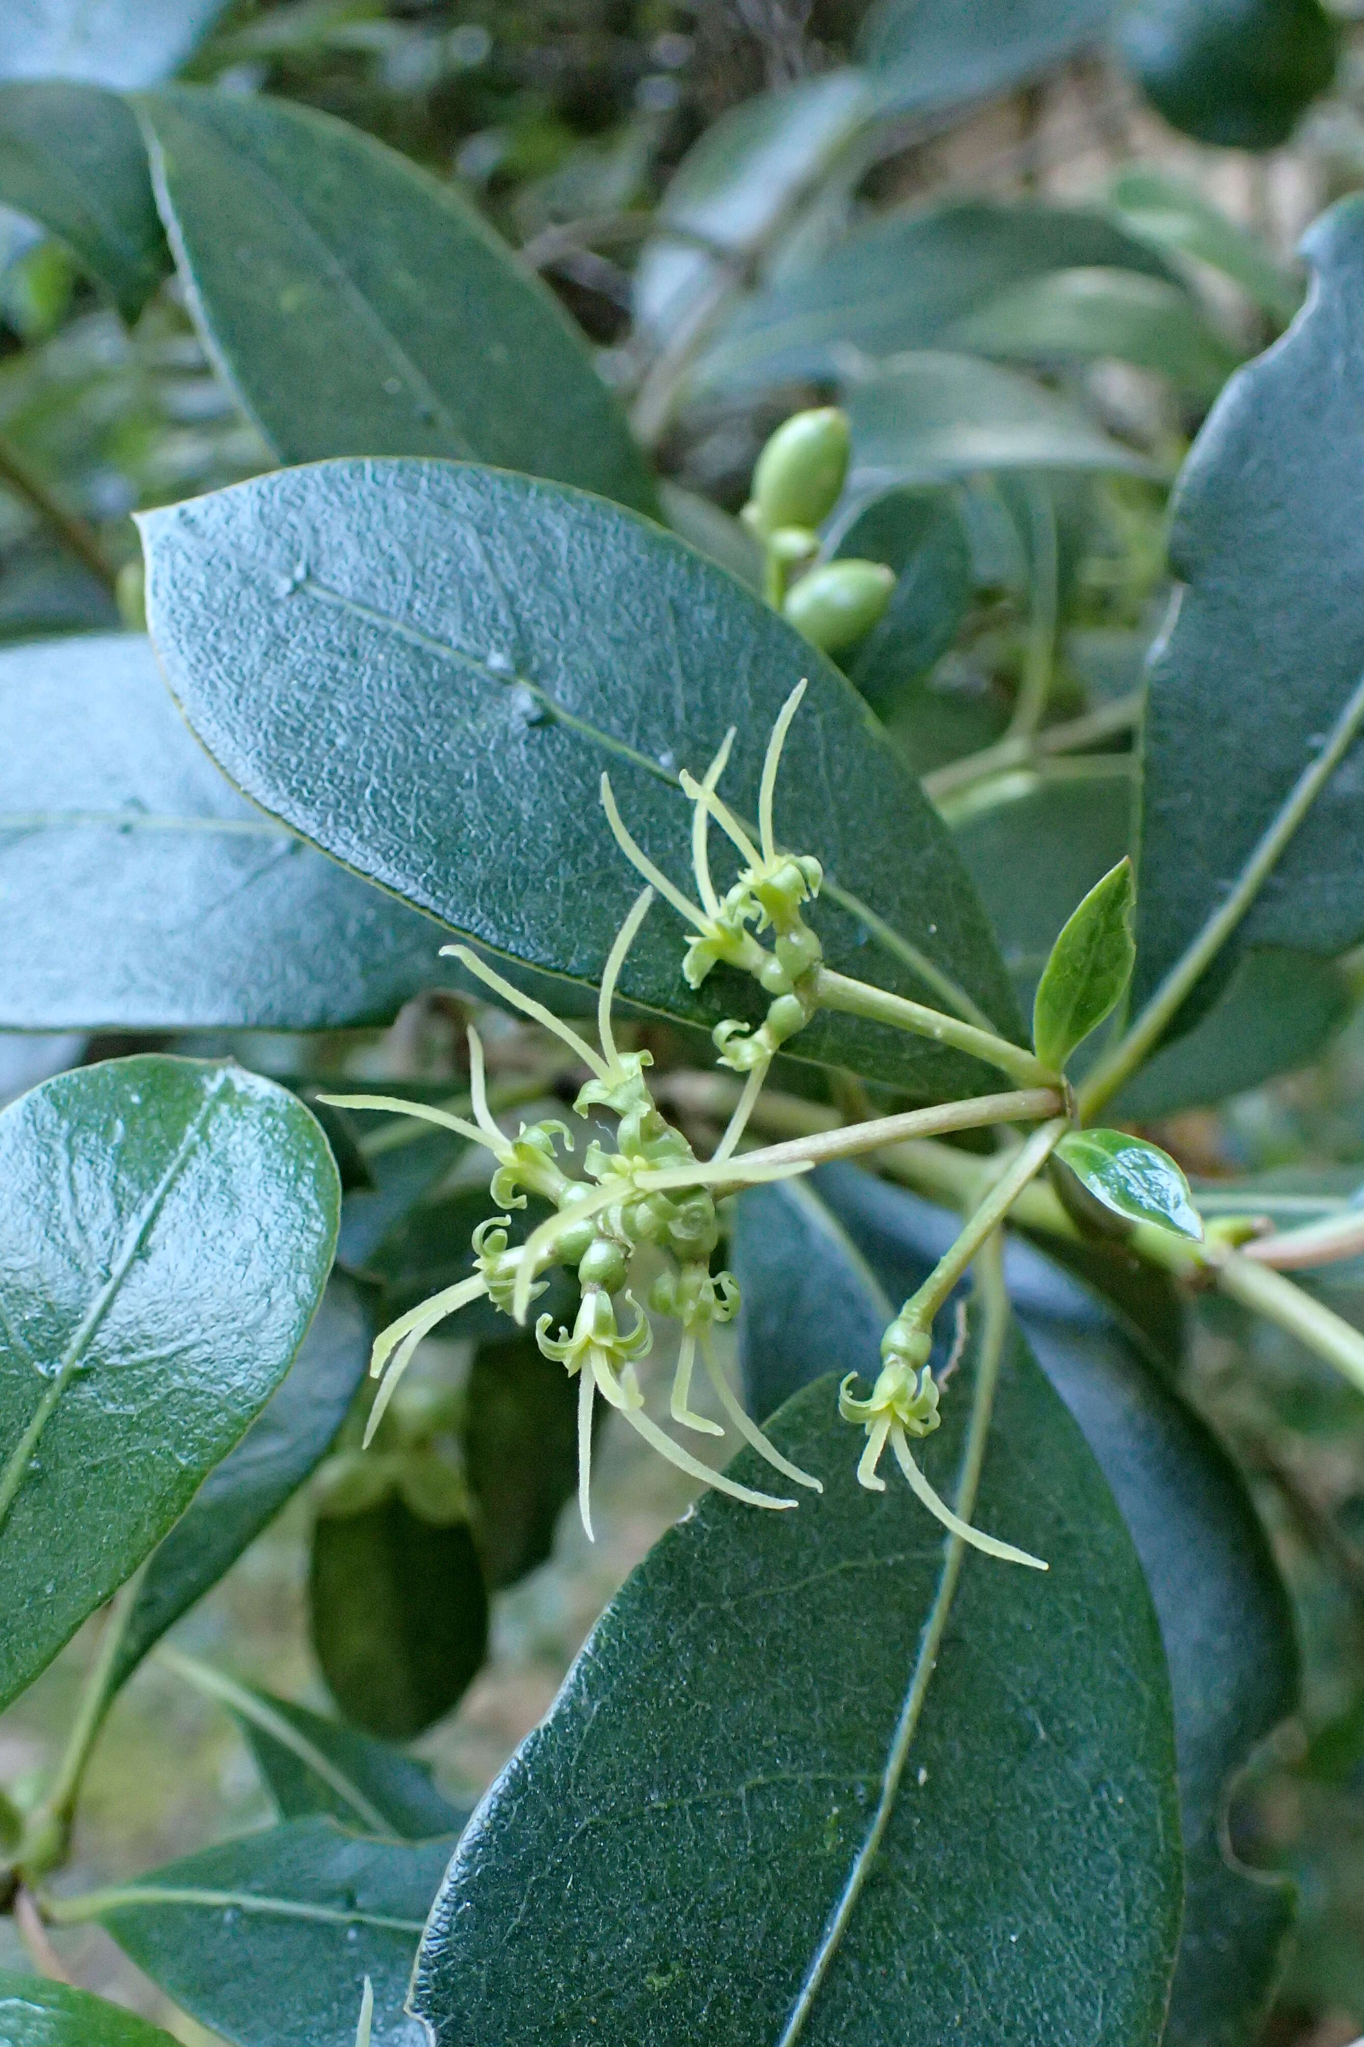
<path fill-rule="evenodd" d="M 16 6 L 0 25 L 0 76 L 65 70 L 137 88 L 176 72 L 282 94 L 454 180 L 597 350 L 669 483 L 669 518 L 740 573 L 748 542 L 726 514 L 742 506 L 763 440 L 800 405 L 851 407 L 861 495 L 855 471 L 826 551 L 888 561 L 900 583 L 849 667 L 930 778 L 1027 993 L 1065 911 L 1127 839 L 1133 692 L 1170 594 L 1170 477 L 1235 362 L 1290 321 L 1301 229 L 1364 188 L 1354 10 L 254 0 L 147 6 L 135 37 L 90 47 L 45 41 L 49 12 Z M 1072 436 L 1070 459 L 1039 467 L 1045 434 L 1029 434 L 1043 428 Z M 125 325 L 63 244 L 0 215 L 0 643 L 135 626 L 129 512 L 270 465 L 174 278 Z M 1012 778 L 1008 757 L 984 788 L 955 776 L 963 755 L 1014 729 L 1039 630 L 1051 669 L 1039 745 Z M 1047 735 L 1086 718 L 1088 751 L 1057 743 L 1051 761 Z M 1192 1069 L 1186 1044 L 1184 1066 L 1160 1085 L 1147 1077 L 1123 1107 L 1213 1193 L 1221 1177 L 1254 1175 L 1284 1214 L 1294 1202 L 1319 1212 L 1327 1181 L 1339 1204 L 1364 1185 L 1364 962 L 1288 970 L 1282 985 L 1272 962 L 1264 972 L 1254 1032 L 1229 1011 Z M 389 1032 L 170 1042 L 231 1050 L 301 1083 L 384 1077 L 438 1097 L 460 1081 L 462 1015 L 456 997 L 431 995 Z M 0 1038 L 0 1097 L 147 1042 Z M 661 1066 L 685 1064 L 677 1036 L 650 1042 Z M 503 1075 L 532 1064 L 519 1044 L 503 1026 Z M 1262 1073 L 1280 1077 L 1249 1085 Z M 366 1152 L 337 1132 L 342 1155 L 346 1144 L 362 1195 L 352 1263 L 399 1308 L 466 1234 L 446 1214 L 460 1208 L 458 1173 L 450 1181 L 440 1157 L 419 1165 L 421 1146 L 368 1140 Z M 389 1228 L 423 1189 L 427 1204 Z M 1364 1261 L 1333 1267 L 1321 1288 L 1364 1318 Z M 1186 1390 L 1252 1476 L 1307 1666 L 1301 1715 L 1229 1816 L 1247 1863 L 1301 1885 L 1266 2041 L 1342 2047 L 1364 2031 L 1364 1410 L 1325 1365 L 1231 1304 L 1198 1304 L 1192 1320 Z M 472 1341 L 427 1345 L 368 1476 L 356 1476 L 352 1417 L 313 1492 L 178 1638 L 315 1705 L 327 1701 L 325 1672 L 331 1697 L 376 1732 L 429 1730 L 419 1750 L 456 1799 L 544 1711 L 601 1603 L 685 1502 L 677 1474 L 609 1427 L 595 1552 L 571 1515 L 554 1521 L 571 1441 L 534 1496 L 511 1486 L 511 1498 L 507 1443 L 526 1404 L 554 1404 L 554 1390 L 530 1359 L 503 1359 L 495 1382 L 519 1374 L 521 1406 L 499 1419 L 466 1400 L 487 1355 Z M 560 1423 L 540 1429 L 556 1441 Z M 327 1586 L 391 1597 L 378 1636 L 415 1613 L 415 1586 L 456 1580 L 462 1631 L 409 1640 L 405 1674 L 366 1672 L 364 1642 L 333 1625 L 350 1595 Z M 10 1775 L 39 1767 L 86 1654 L 74 1644 L 0 1722 Z M 82 1873 L 141 1869 L 258 1810 L 233 1724 L 151 1664 L 100 1750 Z M 80 1941 L 84 1981 L 204 2039 L 100 1934 Z"/>

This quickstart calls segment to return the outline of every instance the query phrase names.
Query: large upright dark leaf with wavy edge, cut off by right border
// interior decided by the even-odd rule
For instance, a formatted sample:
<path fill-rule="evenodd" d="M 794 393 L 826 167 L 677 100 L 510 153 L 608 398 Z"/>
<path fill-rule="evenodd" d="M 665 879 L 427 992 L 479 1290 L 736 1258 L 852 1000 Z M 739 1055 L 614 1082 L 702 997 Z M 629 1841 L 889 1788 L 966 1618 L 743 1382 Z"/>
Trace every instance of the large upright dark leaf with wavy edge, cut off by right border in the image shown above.
<path fill-rule="evenodd" d="M 1231 379 L 1174 502 L 1184 579 L 1151 665 L 1137 970 L 1141 1005 L 1227 901 L 1364 673 L 1364 201 L 1311 229 L 1317 289 Z M 1292 545 L 1288 545 L 1292 536 Z M 1358 745 L 1180 1013 L 1196 1021 L 1249 946 L 1342 952 L 1364 933 Z"/>

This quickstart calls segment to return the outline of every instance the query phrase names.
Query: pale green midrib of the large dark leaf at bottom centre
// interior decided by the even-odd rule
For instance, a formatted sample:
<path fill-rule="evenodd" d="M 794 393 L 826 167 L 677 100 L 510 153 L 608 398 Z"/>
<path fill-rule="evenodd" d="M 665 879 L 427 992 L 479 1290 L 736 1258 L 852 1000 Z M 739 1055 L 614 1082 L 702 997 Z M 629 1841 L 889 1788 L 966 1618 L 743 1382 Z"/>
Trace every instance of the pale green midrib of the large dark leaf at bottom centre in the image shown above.
<path fill-rule="evenodd" d="M 1002 1247 L 996 1238 L 988 1251 L 982 1247 L 982 1259 L 975 1275 L 977 1294 L 982 1300 L 982 1335 L 980 1353 L 975 1363 L 975 1388 L 971 1396 L 971 1419 L 967 1423 L 965 1435 L 965 1455 L 961 1460 L 961 1478 L 957 1482 L 955 1513 L 961 1521 L 971 1519 L 975 1507 L 975 1494 L 980 1490 L 980 1474 L 986 1462 L 986 1443 L 990 1439 L 990 1414 L 994 1408 L 994 1394 L 1000 1384 L 1000 1361 L 1004 1357 L 1004 1339 L 1008 1335 L 1008 1294 L 1004 1292 L 1004 1263 Z M 881 1771 L 881 1795 L 877 1799 L 875 1814 L 871 1816 L 871 1826 L 857 1850 L 857 1859 L 849 1871 L 849 1879 L 843 1885 L 838 1904 L 828 1918 L 820 1945 L 814 1953 L 806 1979 L 800 1986 L 800 1996 L 791 2006 L 791 2014 L 781 2031 L 777 2047 L 795 2047 L 795 2041 L 806 2031 L 814 2002 L 828 1977 L 828 1969 L 843 1945 L 843 1936 L 849 1930 L 857 1900 L 867 1887 L 877 1857 L 881 1853 L 881 1842 L 885 1840 L 885 1830 L 890 1826 L 892 1814 L 896 1810 L 896 1799 L 900 1795 L 900 1785 L 904 1781 L 904 1767 L 910 1760 L 910 1746 L 914 1734 L 918 1732 L 918 1722 L 922 1719 L 924 1701 L 928 1697 L 928 1685 L 933 1672 L 937 1670 L 939 1652 L 943 1648 L 943 1636 L 947 1634 L 947 1621 L 951 1615 L 953 1599 L 957 1593 L 957 1580 L 961 1576 L 961 1564 L 965 1558 L 965 1541 L 961 1535 L 949 1535 L 947 1554 L 943 1560 L 943 1576 L 939 1578 L 939 1588 L 928 1611 L 928 1621 L 918 1642 L 918 1654 L 914 1658 L 914 1670 L 910 1674 L 910 1685 L 904 1695 L 904 1705 L 900 1707 L 900 1719 L 896 1722 L 896 1732 L 892 1734 L 890 1748 L 885 1752 L 885 1769 Z"/>

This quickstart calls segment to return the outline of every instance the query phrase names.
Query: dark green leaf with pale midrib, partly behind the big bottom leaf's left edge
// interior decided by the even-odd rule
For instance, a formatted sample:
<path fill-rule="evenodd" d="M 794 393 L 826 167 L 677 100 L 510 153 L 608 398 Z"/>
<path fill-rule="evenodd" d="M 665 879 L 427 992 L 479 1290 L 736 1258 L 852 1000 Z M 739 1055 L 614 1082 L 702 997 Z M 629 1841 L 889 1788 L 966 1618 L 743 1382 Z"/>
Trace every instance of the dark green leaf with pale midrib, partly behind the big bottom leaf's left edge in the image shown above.
<path fill-rule="evenodd" d="M 403 1998 L 448 1859 L 448 1840 L 288 1820 L 92 1902 L 137 1967 L 231 2047 L 356 2047 L 366 1975 L 374 2047 L 415 2047 Z"/>

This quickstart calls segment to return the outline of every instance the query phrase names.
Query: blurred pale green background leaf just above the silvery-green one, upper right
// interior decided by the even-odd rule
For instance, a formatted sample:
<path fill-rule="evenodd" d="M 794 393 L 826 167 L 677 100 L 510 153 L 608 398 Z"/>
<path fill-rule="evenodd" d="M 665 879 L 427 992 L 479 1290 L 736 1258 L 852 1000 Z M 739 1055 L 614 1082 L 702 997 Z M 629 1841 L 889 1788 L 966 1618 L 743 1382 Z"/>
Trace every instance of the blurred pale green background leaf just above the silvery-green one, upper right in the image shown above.
<path fill-rule="evenodd" d="M 1053 270 L 1000 291 L 945 340 L 1000 362 L 1112 356 L 1211 399 L 1241 360 L 1186 291 L 1135 270 Z"/>

